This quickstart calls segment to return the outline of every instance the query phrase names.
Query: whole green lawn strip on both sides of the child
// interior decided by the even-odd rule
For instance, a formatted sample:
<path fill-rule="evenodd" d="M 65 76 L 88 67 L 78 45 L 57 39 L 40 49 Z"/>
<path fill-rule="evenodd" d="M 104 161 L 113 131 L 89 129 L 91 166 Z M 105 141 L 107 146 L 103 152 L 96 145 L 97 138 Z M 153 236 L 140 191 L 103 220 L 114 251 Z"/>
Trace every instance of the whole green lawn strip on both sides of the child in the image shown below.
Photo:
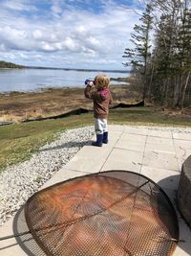
<path fill-rule="evenodd" d="M 151 107 L 117 108 L 110 111 L 109 124 L 191 128 L 191 118 L 168 116 Z M 58 138 L 61 131 L 87 125 L 94 125 L 93 112 L 0 127 L 0 171 L 8 165 L 29 159 L 39 147 Z"/>

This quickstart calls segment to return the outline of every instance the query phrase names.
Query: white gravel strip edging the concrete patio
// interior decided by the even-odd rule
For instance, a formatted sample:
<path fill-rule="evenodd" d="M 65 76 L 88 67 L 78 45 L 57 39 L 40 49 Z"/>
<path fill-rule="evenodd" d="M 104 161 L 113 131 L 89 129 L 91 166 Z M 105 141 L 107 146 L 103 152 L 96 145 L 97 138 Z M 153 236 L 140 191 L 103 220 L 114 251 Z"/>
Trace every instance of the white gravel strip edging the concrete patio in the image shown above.
<path fill-rule="evenodd" d="M 134 127 L 191 133 L 191 128 Z M 63 167 L 84 145 L 91 143 L 94 127 L 75 128 L 43 146 L 28 161 L 0 174 L 0 225 L 3 225 L 32 194 Z"/>

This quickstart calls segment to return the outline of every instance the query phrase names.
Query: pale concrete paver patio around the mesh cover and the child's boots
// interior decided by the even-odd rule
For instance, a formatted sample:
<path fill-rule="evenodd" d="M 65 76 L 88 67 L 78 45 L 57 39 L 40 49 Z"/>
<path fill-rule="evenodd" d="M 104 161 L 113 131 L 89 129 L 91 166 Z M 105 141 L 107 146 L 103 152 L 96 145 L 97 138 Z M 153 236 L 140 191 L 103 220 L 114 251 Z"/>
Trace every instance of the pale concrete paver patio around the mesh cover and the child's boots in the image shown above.
<path fill-rule="evenodd" d="M 191 134 L 152 128 L 109 127 L 109 144 L 85 146 L 43 186 L 69 178 L 108 170 L 132 171 L 148 176 L 166 192 L 176 208 L 182 162 L 191 154 Z M 177 209 L 176 209 L 177 210 Z M 0 227 L 0 237 L 27 230 L 23 209 Z M 191 230 L 181 219 L 180 243 L 173 256 L 191 255 Z M 183 241 L 183 242 L 182 242 Z M 31 234 L 0 241 L 2 256 L 45 255 Z"/>

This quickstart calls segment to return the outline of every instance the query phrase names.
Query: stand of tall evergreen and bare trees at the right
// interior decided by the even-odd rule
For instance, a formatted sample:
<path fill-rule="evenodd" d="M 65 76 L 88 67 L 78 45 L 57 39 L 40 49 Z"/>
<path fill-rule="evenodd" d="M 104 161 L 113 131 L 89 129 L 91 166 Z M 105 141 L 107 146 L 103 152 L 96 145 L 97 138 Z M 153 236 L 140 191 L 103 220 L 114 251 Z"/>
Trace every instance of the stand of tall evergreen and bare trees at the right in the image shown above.
<path fill-rule="evenodd" d="M 191 103 L 190 0 L 147 1 L 124 50 L 124 65 L 132 67 L 143 100 L 165 107 Z"/>

